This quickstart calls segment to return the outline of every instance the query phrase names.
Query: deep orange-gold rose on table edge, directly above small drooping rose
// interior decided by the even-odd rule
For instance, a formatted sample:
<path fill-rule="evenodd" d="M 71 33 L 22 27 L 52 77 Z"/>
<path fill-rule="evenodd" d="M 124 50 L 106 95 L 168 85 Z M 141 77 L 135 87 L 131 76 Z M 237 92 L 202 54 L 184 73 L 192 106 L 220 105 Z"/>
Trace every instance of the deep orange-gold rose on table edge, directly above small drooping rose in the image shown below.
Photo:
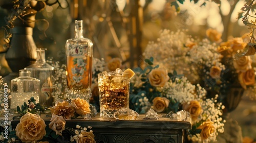
<path fill-rule="evenodd" d="M 71 119 L 75 115 L 75 110 L 68 101 L 63 101 L 53 106 L 51 113 L 62 116 L 64 119 Z"/>

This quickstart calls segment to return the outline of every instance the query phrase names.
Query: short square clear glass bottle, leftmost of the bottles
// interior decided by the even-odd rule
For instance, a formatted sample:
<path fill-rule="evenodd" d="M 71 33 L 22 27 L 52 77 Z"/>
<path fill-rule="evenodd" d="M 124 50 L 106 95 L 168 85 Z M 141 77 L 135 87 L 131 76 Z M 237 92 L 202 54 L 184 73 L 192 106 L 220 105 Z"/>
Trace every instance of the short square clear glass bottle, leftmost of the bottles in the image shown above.
<path fill-rule="evenodd" d="M 31 97 L 39 101 L 39 80 L 30 77 L 30 71 L 19 70 L 19 77 L 11 80 L 11 109 L 16 111 L 24 102 L 28 103 Z"/>

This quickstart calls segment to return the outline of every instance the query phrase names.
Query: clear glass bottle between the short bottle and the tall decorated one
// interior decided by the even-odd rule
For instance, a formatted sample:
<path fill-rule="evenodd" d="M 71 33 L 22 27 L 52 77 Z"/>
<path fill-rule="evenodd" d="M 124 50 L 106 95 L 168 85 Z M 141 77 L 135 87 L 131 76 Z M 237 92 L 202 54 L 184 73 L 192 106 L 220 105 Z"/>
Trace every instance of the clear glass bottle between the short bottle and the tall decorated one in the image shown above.
<path fill-rule="evenodd" d="M 36 62 L 25 69 L 31 72 L 31 77 L 40 80 L 39 103 L 41 106 L 49 107 L 54 105 L 52 96 L 54 67 L 46 62 L 45 49 L 37 49 L 36 53 Z"/>

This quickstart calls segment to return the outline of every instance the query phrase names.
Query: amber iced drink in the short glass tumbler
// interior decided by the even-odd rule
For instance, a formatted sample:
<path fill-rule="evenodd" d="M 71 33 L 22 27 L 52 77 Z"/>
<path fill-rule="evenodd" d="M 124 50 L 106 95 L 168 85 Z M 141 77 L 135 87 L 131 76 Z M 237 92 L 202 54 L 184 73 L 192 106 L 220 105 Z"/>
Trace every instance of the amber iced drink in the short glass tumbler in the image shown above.
<path fill-rule="evenodd" d="M 127 77 L 99 76 L 101 117 L 113 117 L 118 109 L 129 108 L 129 87 Z"/>

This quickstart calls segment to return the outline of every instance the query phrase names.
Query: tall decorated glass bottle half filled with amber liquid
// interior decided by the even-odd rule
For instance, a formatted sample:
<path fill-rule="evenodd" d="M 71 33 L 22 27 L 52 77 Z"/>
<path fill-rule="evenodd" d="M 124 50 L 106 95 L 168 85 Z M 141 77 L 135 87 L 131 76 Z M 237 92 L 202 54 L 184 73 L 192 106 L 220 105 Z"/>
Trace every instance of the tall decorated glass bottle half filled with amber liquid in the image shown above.
<path fill-rule="evenodd" d="M 83 20 L 75 20 L 75 38 L 66 42 L 67 85 L 74 96 L 88 98 L 92 83 L 93 43 L 83 37 Z"/>

